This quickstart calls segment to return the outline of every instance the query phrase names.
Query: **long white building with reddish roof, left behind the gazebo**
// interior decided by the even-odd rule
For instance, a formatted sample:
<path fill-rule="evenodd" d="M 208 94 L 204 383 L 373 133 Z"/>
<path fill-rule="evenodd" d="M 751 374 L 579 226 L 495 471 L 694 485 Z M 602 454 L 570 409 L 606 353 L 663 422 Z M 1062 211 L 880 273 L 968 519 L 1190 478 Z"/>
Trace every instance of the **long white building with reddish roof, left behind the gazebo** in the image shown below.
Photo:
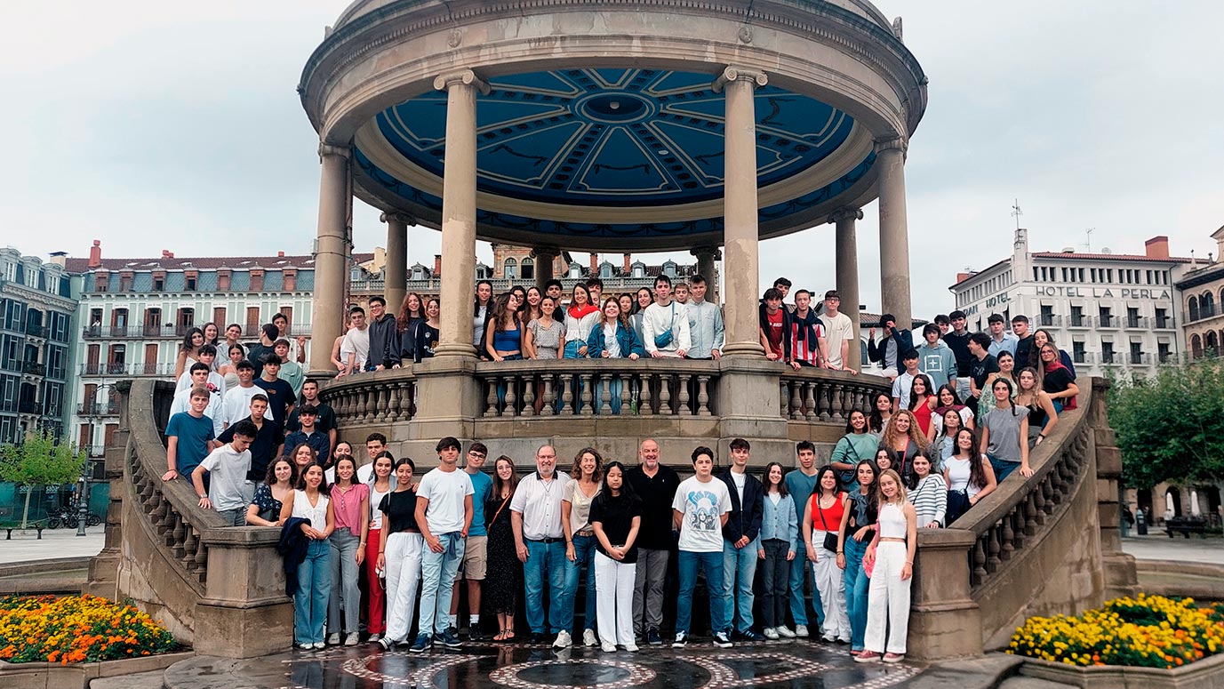
<path fill-rule="evenodd" d="M 224 340 L 225 327 L 237 323 L 242 341 L 252 343 L 259 326 L 283 313 L 290 337 L 310 338 L 312 256 L 176 258 L 163 251 L 158 258 L 103 258 L 95 240 L 89 258 L 69 258 L 66 267 L 80 285 L 70 427 L 93 456 L 119 427 L 114 384 L 171 379 L 191 328 L 217 323 Z"/>

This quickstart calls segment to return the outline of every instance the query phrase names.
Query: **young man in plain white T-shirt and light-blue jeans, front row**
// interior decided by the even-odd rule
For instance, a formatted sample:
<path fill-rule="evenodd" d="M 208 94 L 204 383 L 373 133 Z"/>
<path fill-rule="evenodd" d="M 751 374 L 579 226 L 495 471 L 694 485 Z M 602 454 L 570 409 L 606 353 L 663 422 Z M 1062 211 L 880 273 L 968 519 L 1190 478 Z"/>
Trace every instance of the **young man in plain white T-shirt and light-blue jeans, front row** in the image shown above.
<path fill-rule="evenodd" d="M 471 480 L 455 466 L 459 449 L 455 438 L 438 441 L 438 466 L 416 487 L 416 526 L 426 547 L 421 549 L 420 631 L 409 649 L 414 654 L 425 652 L 435 640 L 448 649 L 463 646 L 447 624 L 450 592 L 472 518 Z"/>

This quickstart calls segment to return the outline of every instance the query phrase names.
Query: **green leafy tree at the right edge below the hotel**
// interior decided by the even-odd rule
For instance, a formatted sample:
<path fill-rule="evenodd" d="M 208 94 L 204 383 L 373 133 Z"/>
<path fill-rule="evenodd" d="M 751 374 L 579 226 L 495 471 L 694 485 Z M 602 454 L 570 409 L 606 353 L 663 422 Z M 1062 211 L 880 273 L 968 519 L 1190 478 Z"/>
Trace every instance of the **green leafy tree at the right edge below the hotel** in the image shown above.
<path fill-rule="evenodd" d="M 1108 410 L 1129 486 L 1224 476 L 1224 361 L 1162 367 L 1140 381 L 1114 379 Z"/>

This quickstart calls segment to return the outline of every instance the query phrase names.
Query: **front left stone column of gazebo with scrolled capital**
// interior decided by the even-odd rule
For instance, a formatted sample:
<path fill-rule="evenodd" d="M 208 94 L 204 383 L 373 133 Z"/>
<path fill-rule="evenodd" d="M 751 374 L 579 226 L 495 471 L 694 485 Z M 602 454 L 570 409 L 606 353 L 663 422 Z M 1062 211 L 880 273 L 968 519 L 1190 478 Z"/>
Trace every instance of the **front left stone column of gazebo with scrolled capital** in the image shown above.
<path fill-rule="evenodd" d="M 475 356 L 471 344 L 476 291 L 476 91 L 488 84 L 471 70 L 433 80 L 447 92 L 442 180 L 442 318 L 436 357 Z"/>

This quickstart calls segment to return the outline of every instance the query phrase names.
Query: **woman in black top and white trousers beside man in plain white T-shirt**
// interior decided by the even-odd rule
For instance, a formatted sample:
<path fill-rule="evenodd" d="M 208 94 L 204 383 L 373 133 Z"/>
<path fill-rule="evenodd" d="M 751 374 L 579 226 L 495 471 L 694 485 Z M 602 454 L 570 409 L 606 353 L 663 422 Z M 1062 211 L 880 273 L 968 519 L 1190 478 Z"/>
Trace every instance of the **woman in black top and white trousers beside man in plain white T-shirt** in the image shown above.
<path fill-rule="evenodd" d="M 390 650 L 408 639 L 412 606 L 421 580 L 421 530 L 416 527 L 416 464 L 409 458 L 395 463 L 395 490 L 383 496 L 378 530 L 378 569 L 387 575 L 387 633 L 378 644 Z"/>

